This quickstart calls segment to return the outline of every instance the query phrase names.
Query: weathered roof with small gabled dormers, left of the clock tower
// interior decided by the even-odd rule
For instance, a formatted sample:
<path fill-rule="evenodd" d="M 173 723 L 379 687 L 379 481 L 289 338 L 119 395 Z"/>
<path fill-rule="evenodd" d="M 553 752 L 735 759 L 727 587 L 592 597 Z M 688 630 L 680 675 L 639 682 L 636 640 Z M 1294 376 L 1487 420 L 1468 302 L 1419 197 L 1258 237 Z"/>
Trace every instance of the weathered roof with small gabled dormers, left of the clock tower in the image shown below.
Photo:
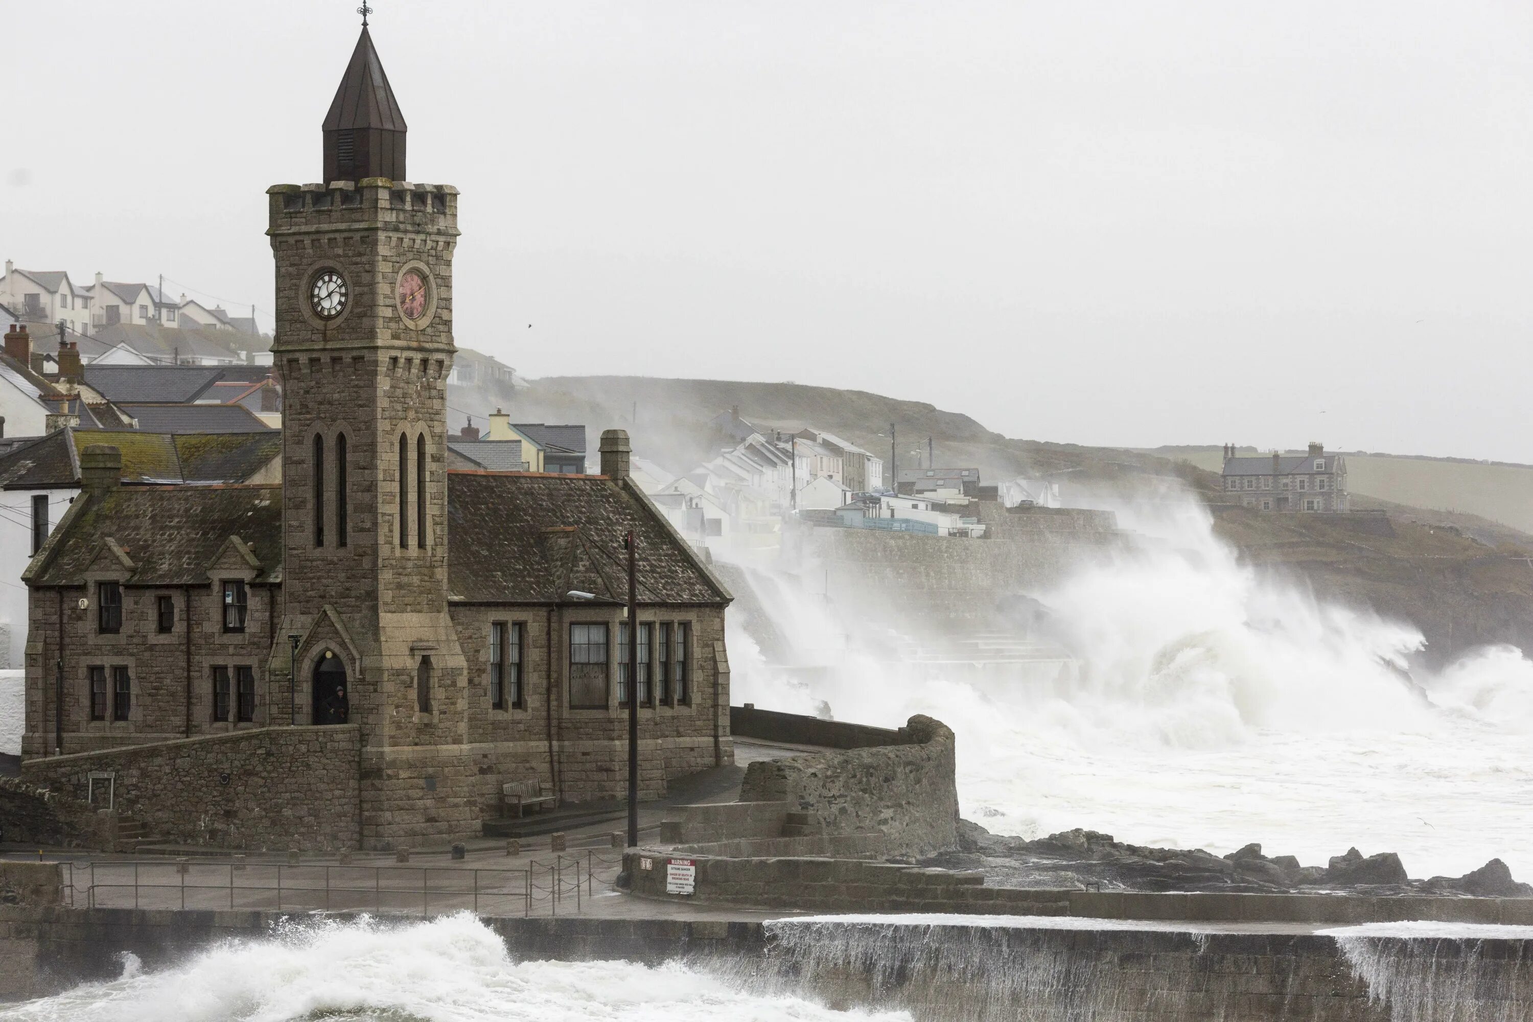
<path fill-rule="evenodd" d="M 32 585 L 78 585 L 103 542 L 133 562 L 130 585 L 207 585 L 207 568 L 228 542 L 244 539 L 259 581 L 281 578 L 281 486 L 124 486 L 81 492 L 41 553 L 23 573 Z"/>

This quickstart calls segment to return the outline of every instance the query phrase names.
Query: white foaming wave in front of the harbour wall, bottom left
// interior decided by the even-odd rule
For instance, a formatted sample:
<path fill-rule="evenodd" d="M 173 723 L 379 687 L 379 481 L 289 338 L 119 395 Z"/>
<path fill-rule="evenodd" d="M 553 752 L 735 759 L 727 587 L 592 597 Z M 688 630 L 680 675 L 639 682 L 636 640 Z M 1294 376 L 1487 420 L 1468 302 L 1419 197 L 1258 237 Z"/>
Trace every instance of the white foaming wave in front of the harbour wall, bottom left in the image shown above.
<path fill-rule="evenodd" d="M 320 922 L 0 1010 L 6 1022 L 814 1022 L 909 1019 L 742 993 L 678 964 L 515 961 L 469 915 Z"/>

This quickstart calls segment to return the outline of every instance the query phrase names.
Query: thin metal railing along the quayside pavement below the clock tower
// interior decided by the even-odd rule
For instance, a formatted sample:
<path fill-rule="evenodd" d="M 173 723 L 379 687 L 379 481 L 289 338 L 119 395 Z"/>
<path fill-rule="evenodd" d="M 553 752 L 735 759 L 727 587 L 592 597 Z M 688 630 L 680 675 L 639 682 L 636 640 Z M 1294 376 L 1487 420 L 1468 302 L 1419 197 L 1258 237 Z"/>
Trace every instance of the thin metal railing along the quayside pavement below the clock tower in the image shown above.
<path fill-rule="evenodd" d="M 570 910 L 578 915 L 595 893 L 595 872 L 619 861 L 590 850 L 512 869 L 92 861 L 72 864 L 64 887 L 69 904 L 78 904 L 83 892 L 84 907 L 90 909 L 556 916 Z"/>

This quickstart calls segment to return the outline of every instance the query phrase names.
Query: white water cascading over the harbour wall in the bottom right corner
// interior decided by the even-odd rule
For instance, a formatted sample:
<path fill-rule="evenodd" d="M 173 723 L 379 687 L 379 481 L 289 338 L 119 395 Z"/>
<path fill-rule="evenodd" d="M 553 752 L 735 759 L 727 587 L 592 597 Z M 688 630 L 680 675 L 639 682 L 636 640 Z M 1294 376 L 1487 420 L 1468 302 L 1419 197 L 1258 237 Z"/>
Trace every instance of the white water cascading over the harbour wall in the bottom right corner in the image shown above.
<path fill-rule="evenodd" d="M 1332 936 L 1390 1022 L 1525 1022 L 1533 927 L 1381 922 Z"/>

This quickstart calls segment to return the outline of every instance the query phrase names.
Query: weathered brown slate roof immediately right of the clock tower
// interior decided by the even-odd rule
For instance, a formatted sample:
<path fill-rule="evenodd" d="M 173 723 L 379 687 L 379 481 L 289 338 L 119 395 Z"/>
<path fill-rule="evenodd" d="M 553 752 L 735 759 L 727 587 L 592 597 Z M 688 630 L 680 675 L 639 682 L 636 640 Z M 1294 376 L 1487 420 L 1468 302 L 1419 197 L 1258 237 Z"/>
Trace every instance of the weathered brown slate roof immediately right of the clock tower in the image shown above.
<path fill-rule="evenodd" d="M 541 472 L 448 473 L 448 590 L 474 602 L 564 602 L 570 590 L 624 601 L 629 529 L 641 602 L 730 602 L 632 483 Z"/>

